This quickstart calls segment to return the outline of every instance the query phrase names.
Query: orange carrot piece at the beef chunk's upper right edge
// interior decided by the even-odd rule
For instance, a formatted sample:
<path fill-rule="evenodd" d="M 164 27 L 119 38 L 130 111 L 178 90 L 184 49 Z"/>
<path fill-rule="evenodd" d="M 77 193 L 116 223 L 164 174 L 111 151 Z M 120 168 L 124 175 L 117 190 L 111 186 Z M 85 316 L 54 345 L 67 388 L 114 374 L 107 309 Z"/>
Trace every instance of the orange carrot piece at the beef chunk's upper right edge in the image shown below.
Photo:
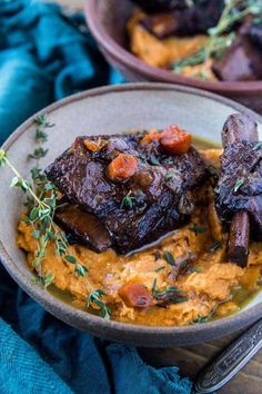
<path fill-rule="evenodd" d="M 162 131 L 160 144 L 170 154 L 187 154 L 192 144 L 192 136 L 174 125 Z"/>

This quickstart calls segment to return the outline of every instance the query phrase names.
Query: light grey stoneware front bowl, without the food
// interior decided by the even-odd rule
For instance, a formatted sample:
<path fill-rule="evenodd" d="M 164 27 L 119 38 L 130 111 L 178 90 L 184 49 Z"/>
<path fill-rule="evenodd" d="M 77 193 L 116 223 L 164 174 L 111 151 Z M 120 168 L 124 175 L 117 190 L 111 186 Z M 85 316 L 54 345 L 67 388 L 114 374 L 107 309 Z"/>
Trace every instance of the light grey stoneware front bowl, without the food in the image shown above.
<path fill-rule="evenodd" d="M 56 124 L 50 129 L 49 154 L 42 165 L 51 162 L 78 135 L 121 132 L 127 129 L 164 127 L 178 124 L 193 135 L 220 142 L 225 118 L 244 111 L 256 119 L 262 137 L 262 119 L 228 99 L 196 89 L 160 83 L 138 83 L 100 88 L 69 97 L 40 114 L 48 114 Z M 26 177 L 31 162 L 27 156 L 33 149 L 33 118 L 12 134 L 3 148 Z M 248 326 L 262 316 L 262 294 L 236 315 L 216 322 L 187 327 L 147 327 L 108 322 L 75 309 L 54 298 L 32 283 L 32 274 L 24 254 L 16 246 L 16 233 L 22 209 L 22 195 L 9 189 L 11 173 L 0 169 L 0 258 L 13 279 L 47 311 L 61 321 L 108 339 L 140 346 L 171 346 L 194 344 L 222 337 Z M 33 322 L 32 322 L 33 324 Z"/>

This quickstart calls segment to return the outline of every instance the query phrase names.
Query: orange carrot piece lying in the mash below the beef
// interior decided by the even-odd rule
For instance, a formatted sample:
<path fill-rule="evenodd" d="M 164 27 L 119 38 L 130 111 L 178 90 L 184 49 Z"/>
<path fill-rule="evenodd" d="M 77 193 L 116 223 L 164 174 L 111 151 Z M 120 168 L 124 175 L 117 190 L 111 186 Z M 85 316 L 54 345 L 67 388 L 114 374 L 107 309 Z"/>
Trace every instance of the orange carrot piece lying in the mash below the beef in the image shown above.
<path fill-rule="evenodd" d="M 119 289 L 119 296 L 132 308 L 147 308 L 152 301 L 149 289 L 141 283 L 127 283 Z"/>

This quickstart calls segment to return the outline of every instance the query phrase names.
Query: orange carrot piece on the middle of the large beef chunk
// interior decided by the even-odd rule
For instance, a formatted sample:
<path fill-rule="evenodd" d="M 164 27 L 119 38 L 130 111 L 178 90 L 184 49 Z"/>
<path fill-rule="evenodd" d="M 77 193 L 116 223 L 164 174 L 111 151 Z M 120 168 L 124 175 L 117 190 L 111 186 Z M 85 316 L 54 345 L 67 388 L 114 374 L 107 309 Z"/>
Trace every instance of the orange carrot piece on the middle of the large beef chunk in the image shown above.
<path fill-rule="evenodd" d="M 132 155 L 120 154 L 108 166 L 108 176 L 112 180 L 124 180 L 134 175 L 138 159 Z"/>

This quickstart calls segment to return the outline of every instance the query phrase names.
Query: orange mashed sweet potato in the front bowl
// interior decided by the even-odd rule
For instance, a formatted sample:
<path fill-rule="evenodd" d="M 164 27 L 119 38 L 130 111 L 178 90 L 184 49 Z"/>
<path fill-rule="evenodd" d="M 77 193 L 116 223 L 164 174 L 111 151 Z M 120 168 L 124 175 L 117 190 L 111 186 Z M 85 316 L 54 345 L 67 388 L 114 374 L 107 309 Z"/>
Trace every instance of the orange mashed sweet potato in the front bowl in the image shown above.
<path fill-rule="evenodd" d="M 210 149 L 203 152 L 209 164 L 218 165 L 221 150 Z M 158 326 L 188 325 L 201 321 L 216 312 L 224 316 L 239 309 L 240 305 L 232 294 L 243 289 L 245 294 L 255 292 L 262 269 L 262 245 L 252 243 L 246 268 L 241 268 L 225 260 L 228 234 L 212 209 L 212 191 L 204 187 L 201 193 L 205 205 L 199 205 L 191 223 L 175 230 L 158 246 L 138 252 L 132 256 L 119 256 L 113 250 L 97 254 L 87 247 L 74 245 L 70 254 L 89 268 L 88 280 L 74 273 L 72 264 L 63 262 L 56 254 L 52 242 L 49 242 L 47 257 L 41 264 L 41 274 L 52 273 L 53 285 L 60 290 L 71 294 L 72 303 L 85 308 L 90 285 L 102 288 L 107 294 L 107 303 L 112 311 L 112 319 Z M 208 199 L 206 199 L 208 196 Z M 196 229 L 201 228 L 201 232 Z M 23 220 L 19 223 L 18 246 L 27 253 L 28 264 L 32 267 L 36 240 L 32 228 Z M 216 248 L 214 242 L 220 240 Z M 177 262 L 193 256 L 193 265 L 185 267 L 179 275 L 177 267 L 170 265 L 164 254 L 170 252 Z M 38 268 L 40 270 L 40 268 Z M 157 280 L 157 282 L 155 282 Z M 153 283 L 158 289 L 167 286 L 178 287 L 184 295 L 183 302 L 169 303 L 165 307 L 157 305 L 148 308 L 128 307 L 120 298 L 118 290 L 127 283 L 142 283 L 150 292 Z"/>

